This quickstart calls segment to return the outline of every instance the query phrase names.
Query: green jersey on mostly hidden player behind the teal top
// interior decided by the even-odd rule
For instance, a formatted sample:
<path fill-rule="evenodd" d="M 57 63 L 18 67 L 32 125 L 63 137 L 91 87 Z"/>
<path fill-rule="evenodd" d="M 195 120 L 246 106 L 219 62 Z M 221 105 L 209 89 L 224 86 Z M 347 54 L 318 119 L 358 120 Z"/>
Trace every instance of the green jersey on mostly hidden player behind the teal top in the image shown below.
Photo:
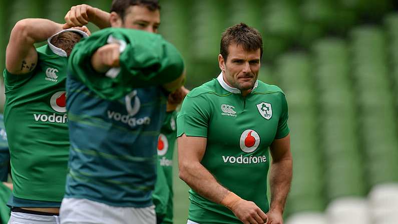
<path fill-rule="evenodd" d="M 173 223 L 173 153 L 176 142 L 177 112 L 166 113 L 158 137 L 158 178 L 153 193 L 156 214 L 164 216 L 164 224 Z"/>

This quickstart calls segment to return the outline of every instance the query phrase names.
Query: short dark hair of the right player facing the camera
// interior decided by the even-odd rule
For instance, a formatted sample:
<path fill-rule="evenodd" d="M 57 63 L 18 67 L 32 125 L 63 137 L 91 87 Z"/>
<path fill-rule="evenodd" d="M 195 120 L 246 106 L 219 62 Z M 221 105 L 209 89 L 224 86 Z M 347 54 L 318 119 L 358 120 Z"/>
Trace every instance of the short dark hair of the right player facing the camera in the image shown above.
<path fill-rule="evenodd" d="M 244 23 L 229 27 L 222 33 L 220 54 L 225 61 L 228 57 L 228 47 L 231 44 L 240 45 L 245 51 L 260 49 L 260 57 L 262 57 L 263 47 L 260 32 Z"/>

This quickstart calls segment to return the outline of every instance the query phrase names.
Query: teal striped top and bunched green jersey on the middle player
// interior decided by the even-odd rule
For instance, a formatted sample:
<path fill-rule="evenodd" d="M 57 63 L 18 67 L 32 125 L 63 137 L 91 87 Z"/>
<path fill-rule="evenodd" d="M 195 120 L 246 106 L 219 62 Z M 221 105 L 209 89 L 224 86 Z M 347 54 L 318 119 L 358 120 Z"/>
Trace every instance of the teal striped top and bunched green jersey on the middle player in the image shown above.
<path fill-rule="evenodd" d="M 121 67 L 98 74 L 88 66 L 91 55 L 108 43 L 120 44 Z M 181 55 L 159 35 L 109 28 L 75 47 L 69 69 L 65 196 L 112 206 L 152 205 L 167 101 L 160 85 L 182 74 Z"/>

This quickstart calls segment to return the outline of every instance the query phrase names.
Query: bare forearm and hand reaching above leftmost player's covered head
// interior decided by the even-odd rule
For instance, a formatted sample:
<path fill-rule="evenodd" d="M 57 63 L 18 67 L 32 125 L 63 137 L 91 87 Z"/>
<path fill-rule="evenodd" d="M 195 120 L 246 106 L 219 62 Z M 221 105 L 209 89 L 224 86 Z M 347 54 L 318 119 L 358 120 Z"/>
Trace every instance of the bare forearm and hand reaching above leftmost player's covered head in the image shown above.
<path fill-rule="evenodd" d="M 71 27 L 82 27 L 87 25 L 89 22 L 95 24 L 98 28 L 104 29 L 111 27 L 110 23 L 111 14 L 102 11 L 98 8 L 91 7 L 89 5 L 83 4 L 74 6 L 68 11 L 65 16 L 64 29 Z"/>

